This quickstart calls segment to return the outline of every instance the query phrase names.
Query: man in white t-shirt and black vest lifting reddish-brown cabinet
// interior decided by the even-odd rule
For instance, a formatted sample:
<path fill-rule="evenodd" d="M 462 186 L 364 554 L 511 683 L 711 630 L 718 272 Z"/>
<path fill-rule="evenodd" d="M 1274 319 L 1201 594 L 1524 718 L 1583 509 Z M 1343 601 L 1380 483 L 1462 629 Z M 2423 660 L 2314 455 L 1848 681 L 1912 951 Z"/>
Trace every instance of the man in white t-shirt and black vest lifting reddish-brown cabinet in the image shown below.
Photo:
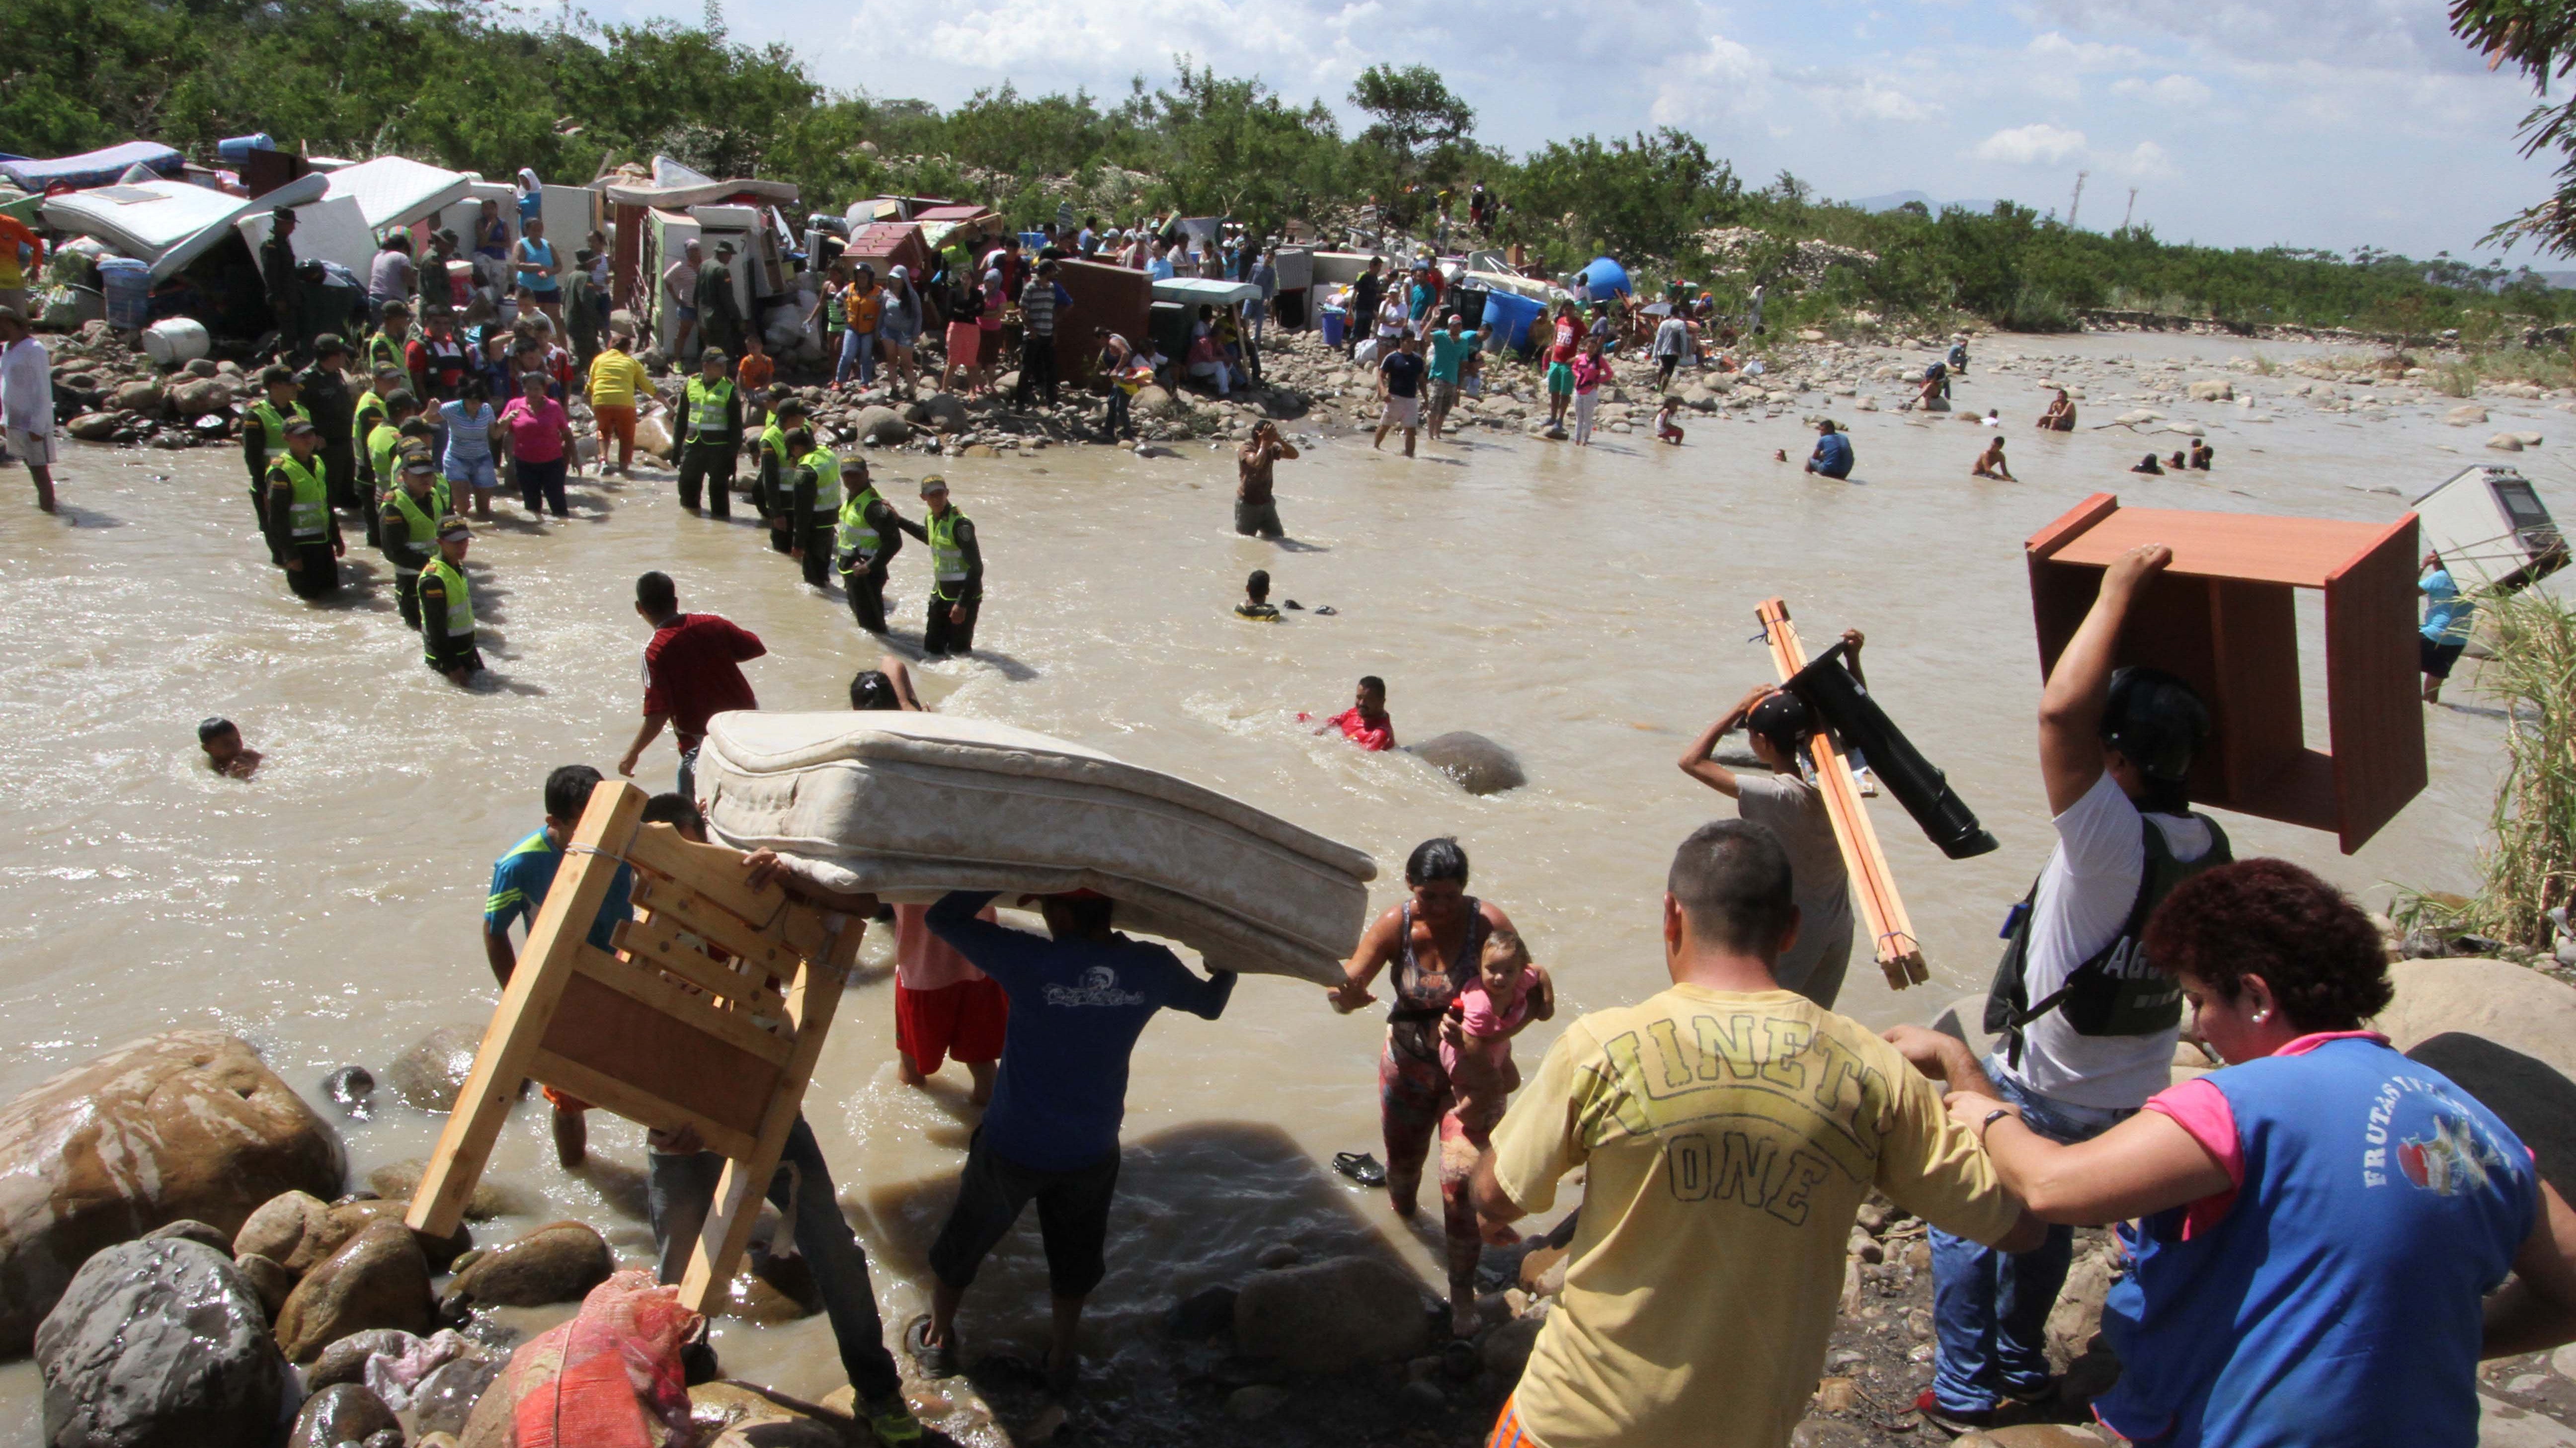
<path fill-rule="evenodd" d="M 2169 672 L 2115 670 L 2120 626 L 2169 562 L 2156 544 L 2112 559 L 2040 691 L 2040 783 L 2058 843 L 2007 920 L 1986 1077 L 2050 1141 L 2099 1136 L 2172 1082 L 2182 989 L 2138 940 L 2174 886 L 2231 858 L 2182 788 L 2208 742 L 2208 706 Z M 2048 1309 L 2071 1252 L 2066 1226 L 2017 1257 L 1932 1232 L 1935 1355 L 1919 1412 L 1984 1425 L 2050 1391 Z"/>

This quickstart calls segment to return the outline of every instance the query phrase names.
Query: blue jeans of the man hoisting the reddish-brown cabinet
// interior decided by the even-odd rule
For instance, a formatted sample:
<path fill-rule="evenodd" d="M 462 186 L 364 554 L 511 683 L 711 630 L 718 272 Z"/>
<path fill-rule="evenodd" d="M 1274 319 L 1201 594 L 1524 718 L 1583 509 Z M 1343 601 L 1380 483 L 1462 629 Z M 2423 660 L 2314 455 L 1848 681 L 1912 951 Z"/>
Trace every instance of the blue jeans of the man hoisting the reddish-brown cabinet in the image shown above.
<path fill-rule="evenodd" d="M 2022 1123 L 2050 1141 L 2092 1141 L 2138 1113 L 2050 1100 L 2007 1077 L 1994 1056 L 1986 1074 L 2022 1108 Z M 1942 1412 L 1986 1412 L 2007 1394 L 2048 1389 L 2048 1309 L 2066 1286 L 2074 1247 L 2074 1226 L 2050 1226 L 2048 1242 L 2022 1255 L 1932 1229 L 1932 1402 Z"/>

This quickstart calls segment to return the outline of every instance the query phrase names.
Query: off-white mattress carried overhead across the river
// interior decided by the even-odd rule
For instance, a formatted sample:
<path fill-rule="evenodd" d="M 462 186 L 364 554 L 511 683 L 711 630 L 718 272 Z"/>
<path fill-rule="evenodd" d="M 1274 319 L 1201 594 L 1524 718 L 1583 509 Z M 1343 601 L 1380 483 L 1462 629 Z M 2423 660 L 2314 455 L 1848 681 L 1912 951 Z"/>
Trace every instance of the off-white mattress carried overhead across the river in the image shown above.
<path fill-rule="evenodd" d="M 1095 889 L 1211 969 L 1340 984 L 1378 866 L 1100 750 L 948 714 L 719 714 L 698 806 L 726 845 L 837 866 L 886 899 Z"/>

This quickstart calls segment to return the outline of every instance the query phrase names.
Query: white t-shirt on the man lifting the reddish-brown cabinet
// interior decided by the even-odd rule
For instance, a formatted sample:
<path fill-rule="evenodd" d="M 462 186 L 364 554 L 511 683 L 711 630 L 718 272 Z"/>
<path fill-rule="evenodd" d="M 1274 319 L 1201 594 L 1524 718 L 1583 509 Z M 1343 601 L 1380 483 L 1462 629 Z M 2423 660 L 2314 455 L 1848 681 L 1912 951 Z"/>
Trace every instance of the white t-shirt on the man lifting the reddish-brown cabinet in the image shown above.
<path fill-rule="evenodd" d="M 2146 876 L 2146 837 L 2138 835 L 2138 806 L 2107 773 L 2058 814 L 2058 848 L 2048 853 L 2040 894 L 2030 904 L 2022 989 L 2032 1005 L 2056 995 L 2069 971 L 2110 946 L 2120 925 L 2128 925 L 2128 910 L 2138 904 L 2138 881 Z M 2208 822 L 2187 814 L 2146 814 L 2146 819 L 2164 832 L 2164 848 L 2177 861 L 2210 853 Z M 2172 1085 L 2177 1036 L 2179 1031 L 2079 1036 L 2063 1010 L 2050 1010 L 2022 1033 L 2020 1069 L 2004 1067 L 2004 1072 L 2045 1098 L 2125 1110 L 2146 1105 L 2146 1098 Z"/>

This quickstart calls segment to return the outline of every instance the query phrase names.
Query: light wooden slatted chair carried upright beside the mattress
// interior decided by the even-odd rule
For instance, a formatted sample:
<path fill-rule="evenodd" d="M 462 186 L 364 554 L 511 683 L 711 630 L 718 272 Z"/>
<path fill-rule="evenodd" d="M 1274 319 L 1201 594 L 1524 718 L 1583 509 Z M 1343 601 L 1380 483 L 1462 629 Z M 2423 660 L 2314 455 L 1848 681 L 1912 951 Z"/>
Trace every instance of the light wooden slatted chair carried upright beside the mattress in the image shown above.
<path fill-rule="evenodd" d="M 639 824 L 644 791 L 605 781 L 564 850 L 528 948 L 484 1031 L 404 1221 L 446 1237 L 533 1077 L 726 1157 L 680 1299 L 716 1311 L 750 1244 L 850 964 L 860 920 L 742 881 L 742 853 Z M 639 917 L 590 946 L 618 863 Z M 711 953 L 719 951 L 719 953 Z"/>

